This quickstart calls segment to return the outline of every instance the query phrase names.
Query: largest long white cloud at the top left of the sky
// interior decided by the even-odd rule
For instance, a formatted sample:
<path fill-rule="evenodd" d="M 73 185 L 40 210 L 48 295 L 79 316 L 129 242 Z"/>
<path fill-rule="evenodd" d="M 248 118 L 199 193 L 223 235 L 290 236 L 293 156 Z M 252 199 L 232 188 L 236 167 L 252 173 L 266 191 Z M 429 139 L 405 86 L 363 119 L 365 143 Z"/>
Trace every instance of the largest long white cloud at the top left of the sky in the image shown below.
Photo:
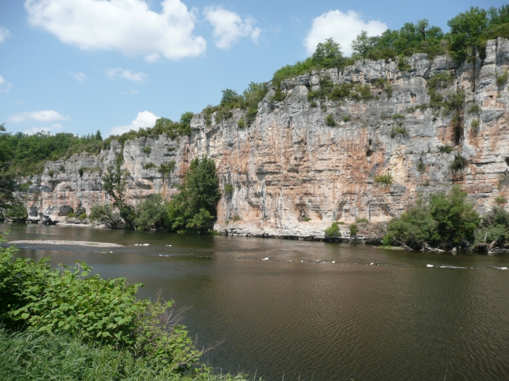
<path fill-rule="evenodd" d="M 84 50 L 116 50 L 128 56 L 167 59 L 198 56 L 206 40 L 192 34 L 197 10 L 163 0 L 162 12 L 144 0 L 26 0 L 29 23 Z"/>

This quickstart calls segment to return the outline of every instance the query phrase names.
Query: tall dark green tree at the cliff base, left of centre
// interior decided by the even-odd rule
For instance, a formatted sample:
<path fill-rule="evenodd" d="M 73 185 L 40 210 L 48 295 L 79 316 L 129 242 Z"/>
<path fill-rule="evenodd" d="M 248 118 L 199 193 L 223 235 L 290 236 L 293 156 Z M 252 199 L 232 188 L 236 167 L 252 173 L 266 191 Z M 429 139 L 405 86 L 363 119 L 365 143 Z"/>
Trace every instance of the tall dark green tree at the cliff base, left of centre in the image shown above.
<path fill-rule="evenodd" d="M 179 186 L 181 192 L 168 205 L 170 230 L 206 233 L 212 228 L 221 196 L 215 172 L 213 159 L 192 160 Z"/>

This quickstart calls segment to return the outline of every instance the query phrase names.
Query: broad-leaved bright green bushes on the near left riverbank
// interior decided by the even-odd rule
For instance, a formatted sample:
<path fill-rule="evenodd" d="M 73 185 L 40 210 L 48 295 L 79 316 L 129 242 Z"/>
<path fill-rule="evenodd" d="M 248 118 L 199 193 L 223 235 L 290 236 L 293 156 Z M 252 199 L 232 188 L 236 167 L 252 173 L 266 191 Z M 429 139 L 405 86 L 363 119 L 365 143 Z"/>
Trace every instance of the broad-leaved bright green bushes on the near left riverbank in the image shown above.
<path fill-rule="evenodd" d="M 91 276 L 92 268 L 81 261 L 54 270 L 49 258 L 37 263 L 12 261 L 14 251 L 0 249 L 4 326 L 68 334 L 98 347 L 126 350 L 172 370 L 200 355 L 185 327 L 165 320 L 173 302 L 137 299 L 141 284 Z"/>

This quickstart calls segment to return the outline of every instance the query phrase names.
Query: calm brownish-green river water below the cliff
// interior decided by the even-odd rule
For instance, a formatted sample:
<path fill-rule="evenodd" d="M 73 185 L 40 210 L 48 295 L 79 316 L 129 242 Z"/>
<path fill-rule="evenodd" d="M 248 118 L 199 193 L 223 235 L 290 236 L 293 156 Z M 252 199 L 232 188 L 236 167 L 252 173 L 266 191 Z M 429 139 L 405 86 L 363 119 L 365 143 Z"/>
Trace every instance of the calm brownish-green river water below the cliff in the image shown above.
<path fill-rule="evenodd" d="M 509 378 L 508 255 L 0 224 L 6 230 L 8 240 L 125 245 L 24 244 L 18 255 L 85 261 L 102 277 L 144 283 L 142 297 L 162 290 L 188 308 L 184 324 L 199 347 L 220 343 L 202 360 L 223 372 L 268 381 Z"/>

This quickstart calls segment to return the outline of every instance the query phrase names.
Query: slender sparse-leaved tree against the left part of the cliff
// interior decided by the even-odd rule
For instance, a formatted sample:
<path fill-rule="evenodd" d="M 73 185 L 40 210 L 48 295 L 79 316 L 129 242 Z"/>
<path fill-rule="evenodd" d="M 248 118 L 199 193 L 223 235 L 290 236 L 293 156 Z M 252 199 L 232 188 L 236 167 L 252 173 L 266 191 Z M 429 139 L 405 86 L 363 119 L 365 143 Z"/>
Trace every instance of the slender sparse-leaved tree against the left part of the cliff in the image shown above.
<path fill-rule="evenodd" d="M 134 228 L 135 208 L 127 203 L 127 185 L 130 172 L 123 169 L 121 162 L 107 167 L 102 175 L 102 189 L 113 200 L 113 206 L 119 210 L 119 215 L 128 229 Z"/>

